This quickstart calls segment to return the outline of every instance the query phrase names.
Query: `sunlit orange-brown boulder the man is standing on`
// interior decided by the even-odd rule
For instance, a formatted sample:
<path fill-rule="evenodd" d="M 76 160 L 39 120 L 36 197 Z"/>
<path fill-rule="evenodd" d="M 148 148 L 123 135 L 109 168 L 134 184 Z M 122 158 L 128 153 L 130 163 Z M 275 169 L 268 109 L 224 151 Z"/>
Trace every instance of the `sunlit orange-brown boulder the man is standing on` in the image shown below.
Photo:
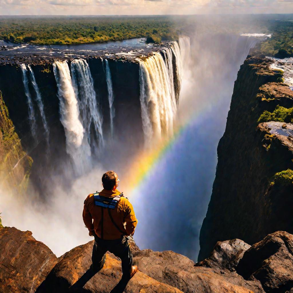
<path fill-rule="evenodd" d="M 94 274 L 89 269 L 93 243 L 94 241 L 90 241 L 77 246 L 62 255 L 47 279 L 38 288 L 37 293 L 122 293 L 125 287 L 126 293 L 182 293 L 179 289 L 158 282 L 141 271 L 138 271 L 128 284 L 119 282 L 122 277 L 121 262 L 110 253 L 106 254 L 102 270 Z"/>

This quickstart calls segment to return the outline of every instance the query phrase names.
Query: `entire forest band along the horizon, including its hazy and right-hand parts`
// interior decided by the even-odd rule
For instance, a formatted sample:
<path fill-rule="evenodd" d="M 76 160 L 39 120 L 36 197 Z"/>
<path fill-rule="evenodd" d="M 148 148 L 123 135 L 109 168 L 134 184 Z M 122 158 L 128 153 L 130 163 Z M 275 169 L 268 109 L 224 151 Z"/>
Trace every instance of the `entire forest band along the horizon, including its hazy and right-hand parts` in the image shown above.
<path fill-rule="evenodd" d="M 65 45 L 100 43 L 147 38 L 160 43 L 176 40 L 179 34 L 197 33 L 271 33 L 262 42 L 263 54 L 293 56 L 293 15 L 242 16 L 74 16 L 74 17 L 2 17 L 0 39 L 16 43 Z"/>

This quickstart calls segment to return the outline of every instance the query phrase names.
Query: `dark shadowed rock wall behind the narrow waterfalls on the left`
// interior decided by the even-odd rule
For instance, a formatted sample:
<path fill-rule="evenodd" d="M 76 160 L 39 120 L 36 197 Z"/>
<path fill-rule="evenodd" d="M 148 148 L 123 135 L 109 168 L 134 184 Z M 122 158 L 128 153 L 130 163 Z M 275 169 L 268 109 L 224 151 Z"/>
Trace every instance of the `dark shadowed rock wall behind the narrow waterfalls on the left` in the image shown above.
<path fill-rule="evenodd" d="M 107 137 L 110 133 L 110 109 L 105 68 L 100 58 L 89 58 L 87 61 L 103 117 L 103 132 Z M 70 67 L 70 61 L 68 64 Z M 135 149 L 143 142 L 139 100 L 139 66 L 134 62 L 111 59 L 108 60 L 108 64 L 114 93 L 115 140 L 126 142 L 129 149 Z M 50 185 L 50 177 L 63 175 L 62 163 L 68 163 L 70 160 L 66 153 L 64 127 L 60 122 L 59 98 L 53 64 L 31 64 L 31 68 L 41 93 L 45 117 L 49 126 L 49 149 L 47 149 L 45 130 L 34 96 L 35 91 L 29 82 L 28 86 L 36 111 L 38 142 L 34 142 L 32 137 L 28 118 L 28 100 L 25 96 L 22 71 L 19 65 L 0 66 L 0 90 L 15 126 L 15 131 L 21 139 L 22 147 L 33 158 L 30 179 L 36 188 L 42 189 L 44 192 L 46 185 Z M 47 156 L 49 160 L 45 156 L 45 152 L 49 154 Z M 45 183 L 43 178 L 46 178 L 48 182 Z"/>

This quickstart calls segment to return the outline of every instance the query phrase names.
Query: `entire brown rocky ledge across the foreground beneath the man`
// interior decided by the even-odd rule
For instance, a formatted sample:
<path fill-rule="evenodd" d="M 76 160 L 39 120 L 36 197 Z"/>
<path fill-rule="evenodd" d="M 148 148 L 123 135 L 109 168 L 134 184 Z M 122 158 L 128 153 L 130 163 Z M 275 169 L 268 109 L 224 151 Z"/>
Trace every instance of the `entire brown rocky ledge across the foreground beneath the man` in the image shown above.
<path fill-rule="evenodd" d="M 239 239 L 217 242 L 210 257 L 196 264 L 132 243 L 139 272 L 120 290 L 120 260 L 108 253 L 103 269 L 93 274 L 92 247 L 90 241 L 57 258 L 30 231 L 0 228 L 0 292 L 293 292 L 293 235 L 283 231 L 253 246 Z"/>

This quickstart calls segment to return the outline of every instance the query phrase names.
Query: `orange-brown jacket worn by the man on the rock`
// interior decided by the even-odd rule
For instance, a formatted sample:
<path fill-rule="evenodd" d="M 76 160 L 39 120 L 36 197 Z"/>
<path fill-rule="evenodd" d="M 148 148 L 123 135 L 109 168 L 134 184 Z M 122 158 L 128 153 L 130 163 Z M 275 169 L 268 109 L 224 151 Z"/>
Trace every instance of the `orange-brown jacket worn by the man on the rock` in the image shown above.
<path fill-rule="evenodd" d="M 105 197 L 115 197 L 120 194 L 121 192 L 118 190 L 111 191 L 106 189 L 99 193 L 99 195 Z M 121 231 L 125 235 L 134 233 L 137 219 L 132 204 L 126 197 L 121 197 L 110 213 L 120 231 L 110 219 L 108 208 L 95 205 L 93 193 L 89 194 L 84 201 L 84 211 L 82 213 L 84 224 L 89 231 L 94 230 L 98 237 L 105 240 L 113 240 L 121 237 Z"/>

